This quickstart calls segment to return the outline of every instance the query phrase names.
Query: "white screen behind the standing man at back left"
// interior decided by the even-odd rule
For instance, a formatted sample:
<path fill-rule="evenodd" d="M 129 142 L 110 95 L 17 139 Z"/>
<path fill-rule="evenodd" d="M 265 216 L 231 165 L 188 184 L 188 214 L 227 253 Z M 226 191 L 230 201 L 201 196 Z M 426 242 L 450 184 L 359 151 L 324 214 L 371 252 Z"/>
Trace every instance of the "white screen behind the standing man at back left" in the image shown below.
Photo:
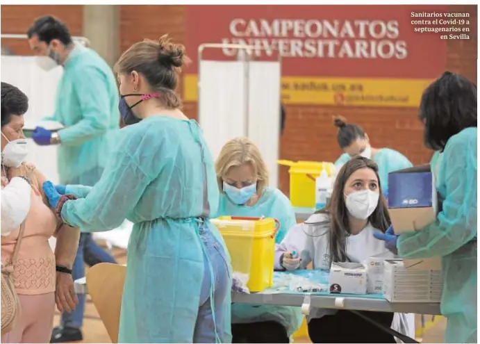
<path fill-rule="evenodd" d="M 56 67 L 45 72 L 35 63 L 33 56 L 1 56 L 1 81 L 15 85 L 28 96 L 28 112 L 25 122 L 40 122 L 53 114 L 55 94 L 63 69 Z M 58 183 L 57 152 L 53 146 L 38 146 L 28 140 L 27 161 L 53 183 Z"/>

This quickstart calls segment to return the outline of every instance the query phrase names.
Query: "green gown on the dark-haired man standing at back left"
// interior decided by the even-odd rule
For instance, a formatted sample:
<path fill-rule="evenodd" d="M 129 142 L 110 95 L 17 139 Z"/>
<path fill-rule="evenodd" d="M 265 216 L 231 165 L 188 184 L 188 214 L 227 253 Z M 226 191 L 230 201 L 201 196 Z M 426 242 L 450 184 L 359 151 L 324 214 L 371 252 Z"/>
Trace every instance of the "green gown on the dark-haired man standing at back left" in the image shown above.
<path fill-rule="evenodd" d="M 92 49 L 76 44 L 58 83 L 55 112 L 47 120 L 58 131 L 61 184 L 94 186 L 99 181 L 119 129 L 118 86 L 112 69 Z"/>

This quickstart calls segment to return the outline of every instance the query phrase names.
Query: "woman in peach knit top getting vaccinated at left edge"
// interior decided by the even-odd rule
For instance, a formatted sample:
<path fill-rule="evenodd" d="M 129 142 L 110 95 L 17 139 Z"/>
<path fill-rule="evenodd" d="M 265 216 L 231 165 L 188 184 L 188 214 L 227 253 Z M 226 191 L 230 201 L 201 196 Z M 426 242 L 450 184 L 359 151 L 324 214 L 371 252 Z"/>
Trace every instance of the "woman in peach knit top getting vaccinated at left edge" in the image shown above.
<path fill-rule="evenodd" d="M 13 263 L 13 283 L 22 308 L 15 327 L 1 334 L 2 343 L 49 343 L 54 305 L 57 304 L 60 311 L 72 311 L 76 306 L 72 275 L 68 271 L 73 265 L 80 231 L 65 230 L 63 224 L 57 222 L 41 191 L 45 177 L 25 163 L 28 146 L 23 133 L 23 115 L 27 110 L 26 95 L 13 85 L 1 83 L 2 227 L 4 213 L 16 213 L 10 214 L 13 218 L 10 226 L 17 225 L 10 234 L 1 236 L 1 264 L 3 269 Z M 24 184 L 18 182 L 20 178 L 31 187 L 24 188 Z M 12 202 L 3 203 L 4 192 L 16 186 L 24 188 L 19 194 L 27 190 L 29 193 L 19 209 L 13 208 Z M 22 222 L 22 242 L 16 261 L 12 261 Z M 49 245 L 53 235 L 57 237 L 55 253 Z"/>

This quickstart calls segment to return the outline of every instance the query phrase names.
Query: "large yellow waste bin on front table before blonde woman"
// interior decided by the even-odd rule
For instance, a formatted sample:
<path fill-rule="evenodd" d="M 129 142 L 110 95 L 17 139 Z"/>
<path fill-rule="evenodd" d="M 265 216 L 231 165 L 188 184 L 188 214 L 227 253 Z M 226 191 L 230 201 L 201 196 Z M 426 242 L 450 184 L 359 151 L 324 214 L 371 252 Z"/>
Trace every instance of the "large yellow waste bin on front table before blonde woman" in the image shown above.
<path fill-rule="evenodd" d="M 251 292 L 273 285 L 275 234 L 279 221 L 273 218 L 222 216 L 212 223 L 222 234 L 231 256 L 233 272 Z"/>

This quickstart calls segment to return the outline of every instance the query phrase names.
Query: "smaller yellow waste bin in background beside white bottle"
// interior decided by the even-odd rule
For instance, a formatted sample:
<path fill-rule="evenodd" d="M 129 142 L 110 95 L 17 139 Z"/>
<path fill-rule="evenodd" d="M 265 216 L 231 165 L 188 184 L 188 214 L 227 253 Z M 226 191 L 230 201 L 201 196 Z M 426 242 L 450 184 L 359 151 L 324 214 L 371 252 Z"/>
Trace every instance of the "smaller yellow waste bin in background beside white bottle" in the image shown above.
<path fill-rule="evenodd" d="M 299 208 L 315 208 L 315 179 L 322 170 L 332 177 L 335 173 L 333 163 L 317 163 L 315 161 L 279 160 L 279 165 L 290 166 L 290 202 Z"/>

